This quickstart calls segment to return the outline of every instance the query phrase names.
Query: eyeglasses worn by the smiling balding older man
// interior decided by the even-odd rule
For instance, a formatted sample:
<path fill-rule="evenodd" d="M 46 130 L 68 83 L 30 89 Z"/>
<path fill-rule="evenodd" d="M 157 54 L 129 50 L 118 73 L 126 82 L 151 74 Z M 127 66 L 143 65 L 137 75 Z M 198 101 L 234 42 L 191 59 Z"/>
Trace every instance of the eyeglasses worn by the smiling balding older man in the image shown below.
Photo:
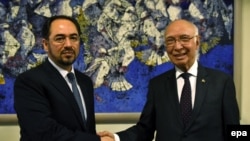
<path fill-rule="evenodd" d="M 196 37 L 197 35 L 194 36 L 188 36 L 188 35 L 181 35 L 179 38 L 174 38 L 174 37 L 168 37 L 166 38 L 166 45 L 167 47 L 172 47 L 175 45 L 175 43 L 178 41 L 182 45 L 187 45 L 191 39 Z"/>

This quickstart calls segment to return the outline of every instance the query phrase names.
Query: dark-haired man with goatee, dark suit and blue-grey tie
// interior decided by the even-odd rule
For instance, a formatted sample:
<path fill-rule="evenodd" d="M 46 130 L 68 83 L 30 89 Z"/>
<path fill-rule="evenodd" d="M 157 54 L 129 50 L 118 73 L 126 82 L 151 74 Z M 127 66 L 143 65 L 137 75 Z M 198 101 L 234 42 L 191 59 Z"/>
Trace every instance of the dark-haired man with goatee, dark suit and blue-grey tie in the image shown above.
<path fill-rule="evenodd" d="M 20 140 L 100 141 L 92 81 L 72 65 L 80 50 L 77 21 L 63 15 L 49 18 L 43 27 L 42 43 L 48 54 L 46 61 L 20 74 L 14 84 Z M 76 77 L 78 99 L 73 96 L 69 72 Z"/>

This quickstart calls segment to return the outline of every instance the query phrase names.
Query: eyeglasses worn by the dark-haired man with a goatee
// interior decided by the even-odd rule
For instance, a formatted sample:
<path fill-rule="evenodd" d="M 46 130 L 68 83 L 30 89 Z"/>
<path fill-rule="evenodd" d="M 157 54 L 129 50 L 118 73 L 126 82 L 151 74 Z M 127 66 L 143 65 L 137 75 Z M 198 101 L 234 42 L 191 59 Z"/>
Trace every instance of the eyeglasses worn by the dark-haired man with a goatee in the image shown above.
<path fill-rule="evenodd" d="M 58 44 L 64 44 L 66 41 L 66 38 L 69 38 L 71 43 L 76 43 L 80 41 L 80 37 L 78 35 L 70 35 L 70 36 L 57 35 L 53 38 L 53 41 Z"/>

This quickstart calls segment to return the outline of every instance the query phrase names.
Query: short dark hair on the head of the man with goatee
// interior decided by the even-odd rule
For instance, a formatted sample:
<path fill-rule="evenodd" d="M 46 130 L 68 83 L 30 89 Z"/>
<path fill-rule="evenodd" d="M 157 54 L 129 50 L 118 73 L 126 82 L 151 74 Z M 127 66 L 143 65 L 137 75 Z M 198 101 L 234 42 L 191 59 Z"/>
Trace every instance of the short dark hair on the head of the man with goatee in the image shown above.
<path fill-rule="evenodd" d="M 76 19 L 69 17 L 69 16 L 66 16 L 66 15 L 56 15 L 56 16 L 50 17 L 49 19 L 47 19 L 47 21 L 45 21 L 45 23 L 43 25 L 43 29 L 42 29 L 42 37 L 43 38 L 45 38 L 45 39 L 49 38 L 51 24 L 53 21 L 58 20 L 58 19 L 65 19 L 65 20 L 71 21 L 76 26 L 78 34 L 79 35 L 81 34 L 80 25 Z"/>

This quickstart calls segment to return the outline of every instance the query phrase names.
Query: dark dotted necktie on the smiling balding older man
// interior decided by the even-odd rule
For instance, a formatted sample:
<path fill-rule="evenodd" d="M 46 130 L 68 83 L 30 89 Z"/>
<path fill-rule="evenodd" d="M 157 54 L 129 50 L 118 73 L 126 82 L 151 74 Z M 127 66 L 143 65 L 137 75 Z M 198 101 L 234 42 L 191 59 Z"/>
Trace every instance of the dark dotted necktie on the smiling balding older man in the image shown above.
<path fill-rule="evenodd" d="M 189 82 L 189 73 L 182 73 L 181 77 L 184 78 L 184 86 L 182 88 L 181 93 L 181 116 L 184 123 L 184 126 L 188 124 L 189 120 L 191 119 L 192 113 L 192 101 L 191 101 L 191 86 Z"/>

